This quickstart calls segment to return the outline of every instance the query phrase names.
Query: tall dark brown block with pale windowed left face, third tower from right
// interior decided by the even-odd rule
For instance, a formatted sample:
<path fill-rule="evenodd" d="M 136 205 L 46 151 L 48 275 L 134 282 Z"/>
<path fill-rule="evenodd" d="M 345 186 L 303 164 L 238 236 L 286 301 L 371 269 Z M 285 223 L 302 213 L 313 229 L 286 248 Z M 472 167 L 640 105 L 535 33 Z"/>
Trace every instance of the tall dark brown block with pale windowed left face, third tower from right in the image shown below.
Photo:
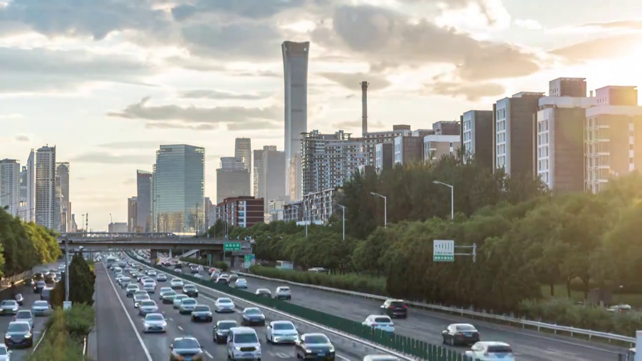
<path fill-rule="evenodd" d="M 493 169 L 533 173 L 535 117 L 543 92 L 518 92 L 493 104 Z"/>

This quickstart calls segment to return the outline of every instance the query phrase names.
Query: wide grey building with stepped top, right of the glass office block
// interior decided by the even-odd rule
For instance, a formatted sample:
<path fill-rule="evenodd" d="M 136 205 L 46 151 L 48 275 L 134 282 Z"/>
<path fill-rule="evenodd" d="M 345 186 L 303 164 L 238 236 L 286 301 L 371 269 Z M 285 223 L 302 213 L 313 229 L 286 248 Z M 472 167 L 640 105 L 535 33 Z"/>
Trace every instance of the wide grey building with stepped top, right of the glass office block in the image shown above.
<path fill-rule="evenodd" d="M 216 170 L 216 204 L 225 198 L 248 197 L 252 192 L 252 175 L 240 157 L 221 157 Z"/>

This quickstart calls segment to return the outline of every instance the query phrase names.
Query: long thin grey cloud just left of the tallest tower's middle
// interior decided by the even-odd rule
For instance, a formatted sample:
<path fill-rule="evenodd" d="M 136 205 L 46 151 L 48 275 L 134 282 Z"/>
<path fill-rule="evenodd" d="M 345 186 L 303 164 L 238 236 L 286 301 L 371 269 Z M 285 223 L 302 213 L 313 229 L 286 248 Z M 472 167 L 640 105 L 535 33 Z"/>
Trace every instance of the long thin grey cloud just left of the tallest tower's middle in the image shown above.
<path fill-rule="evenodd" d="M 120 112 L 109 112 L 107 116 L 125 119 L 145 119 L 148 128 L 175 128 L 180 123 L 181 127 L 200 128 L 211 130 L 225 123 L 227 127 L 243 127 L 244 125 L 257 125 L 261 121 L 275 122 L 274 119 L 282 115 L 279 107 L 248 108 L 239 106 L 229 107 L 180 107 L 179 105 L 149 105 L 150 98 L 143 98 L 138 103 L 128 105 Z M 173 121 L 173 122 L 172 122 Z M 259 122 L 257 122 L 259 121 Z M 207 128 L 207 129 L 206 129 Z M 198 130 L 198 129 L 197 129 Z"/>

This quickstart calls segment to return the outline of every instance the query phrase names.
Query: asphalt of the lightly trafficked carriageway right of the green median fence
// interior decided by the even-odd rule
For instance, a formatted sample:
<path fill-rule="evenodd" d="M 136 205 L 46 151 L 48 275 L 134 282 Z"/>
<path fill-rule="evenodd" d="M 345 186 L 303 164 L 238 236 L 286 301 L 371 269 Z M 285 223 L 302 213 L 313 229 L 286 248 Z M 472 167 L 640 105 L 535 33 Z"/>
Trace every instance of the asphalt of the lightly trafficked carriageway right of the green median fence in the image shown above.
<path fill-rule="evenodd" d="M 204 272 L 201 272 L 204 274 Z M 204 275 L 204 277 L 207 277 Z M 257 288 L 268 288 L 274 292 L 277 286 L 284 285 L 276 281 L 266 281 L 247 277 L 248 292 Z M 290 286 L 292 290 L 291 303 L 299 304 L 315 310 L 331 313 L 353 321 L 362 322 L 373 313 L 379 312 L 379 301 L 351 297 L 315 290 L 313 288 Z M 408 319 L 395 319 L 396 333 L 415 339 L 425 340 L 433 344 L 441 344 L 441 331 L 448 324 L 463 322 L 473 323 L 480 333 L 482 340 L 508 342 L 516 355 L 525 361 L 608 361 L 617 360 L 617 354 L 625 352 L 624 348 L 586 342 L 570 337 L 559 337 L 492 324 L 490 322 L 471 321 L 465 317 L 447 315 L 446 313 L 428 312 L 410 309 Z M 465 351 L 465 348 L 455 348 Z"/>

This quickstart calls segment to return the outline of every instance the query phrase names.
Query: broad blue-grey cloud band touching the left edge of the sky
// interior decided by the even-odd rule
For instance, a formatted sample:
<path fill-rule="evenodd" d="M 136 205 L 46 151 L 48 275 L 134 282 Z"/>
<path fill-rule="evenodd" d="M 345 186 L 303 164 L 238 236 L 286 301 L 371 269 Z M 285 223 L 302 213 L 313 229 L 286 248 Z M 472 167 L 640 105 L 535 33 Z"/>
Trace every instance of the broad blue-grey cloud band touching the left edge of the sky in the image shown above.
<path fill-rule="evenodd" d="M 143 84 L 155 69 L 122 55 L 83 50 L 0 48 L 0 92 L 60 91 L 87 82 Z"/>

